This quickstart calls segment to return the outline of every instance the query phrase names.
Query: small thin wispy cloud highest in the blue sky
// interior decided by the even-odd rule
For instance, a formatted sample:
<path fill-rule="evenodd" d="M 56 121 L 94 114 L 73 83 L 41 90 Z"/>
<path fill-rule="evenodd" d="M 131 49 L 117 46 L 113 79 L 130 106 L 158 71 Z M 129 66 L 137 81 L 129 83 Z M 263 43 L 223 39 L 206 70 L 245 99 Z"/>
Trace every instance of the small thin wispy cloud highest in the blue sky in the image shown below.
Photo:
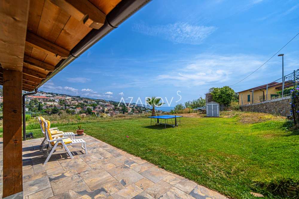
<path fill-rule="evenodd" d="M 136 24 L 134 30 L 150 36 L 159 36 L 174 43 L 198 45 L 216 30 L 214 26 L 198 26 L 177 22 L 167 25 L 149 26 Z"/>

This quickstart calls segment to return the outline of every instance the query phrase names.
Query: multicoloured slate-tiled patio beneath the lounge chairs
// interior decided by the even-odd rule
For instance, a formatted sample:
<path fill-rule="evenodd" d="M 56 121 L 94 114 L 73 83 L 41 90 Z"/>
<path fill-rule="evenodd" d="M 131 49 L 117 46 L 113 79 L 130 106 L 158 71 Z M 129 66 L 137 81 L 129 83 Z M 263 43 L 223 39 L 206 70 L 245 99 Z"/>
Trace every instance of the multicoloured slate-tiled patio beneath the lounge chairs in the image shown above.
<path fill-rule="evenodd" d="M 80 138 L 87 155 L 74 144 L 68 147 L 73 159 L 58 149 L 46 165 L 39 150 L 42 139 L 23 142 L 24 198 L 226 198 L 93 137 Z M 2 194 L 2 177 L 0 183 Z"/>

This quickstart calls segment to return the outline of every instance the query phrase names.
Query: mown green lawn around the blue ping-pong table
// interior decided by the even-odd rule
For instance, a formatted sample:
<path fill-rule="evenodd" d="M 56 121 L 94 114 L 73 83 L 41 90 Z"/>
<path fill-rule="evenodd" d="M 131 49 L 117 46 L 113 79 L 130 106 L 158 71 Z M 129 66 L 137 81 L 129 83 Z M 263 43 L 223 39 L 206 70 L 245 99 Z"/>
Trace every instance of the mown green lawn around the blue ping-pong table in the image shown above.
<path fill-rule="evenodd" d="M 298 187 L 299 135 L 284 131 L 283 121 L 242 124 L 236 117 L 184 117 L 177 128 L 149 124 L 148 118 L 134 118 L 82 127 L 99 140 L 232 198 L 253 198 L 251 191 L 272 198 L 269 190 L 275 194 L 290 184 Z M 59 129 L 76 132 L 76 127 Z M 28 132 L 42 136 L 40 129 Z"/>

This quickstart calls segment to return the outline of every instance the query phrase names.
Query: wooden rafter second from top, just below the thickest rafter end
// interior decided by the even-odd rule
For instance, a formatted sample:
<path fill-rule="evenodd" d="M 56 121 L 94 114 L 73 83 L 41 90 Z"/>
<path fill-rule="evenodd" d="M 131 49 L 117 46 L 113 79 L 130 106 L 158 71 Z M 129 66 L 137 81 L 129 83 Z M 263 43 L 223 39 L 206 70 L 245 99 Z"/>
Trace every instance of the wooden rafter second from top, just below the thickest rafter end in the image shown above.
<path fill-rule="evenodd" d="M 54 55 L 59 59 L 66 59 L 70 54 L 70 51 L 52 42 L 49 42 L 48 40 L 29 31 L 27 31 L 26 45 L 29 45 L 43 52 L 50 53 L 51 55 Z"/>

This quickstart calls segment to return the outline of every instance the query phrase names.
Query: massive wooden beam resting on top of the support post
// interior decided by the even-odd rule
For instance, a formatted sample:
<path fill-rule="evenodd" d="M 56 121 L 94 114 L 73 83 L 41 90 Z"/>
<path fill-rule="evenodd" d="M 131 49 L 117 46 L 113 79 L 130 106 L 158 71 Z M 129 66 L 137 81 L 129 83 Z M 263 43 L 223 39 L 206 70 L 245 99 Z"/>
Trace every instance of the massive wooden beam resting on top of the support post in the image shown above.
<path fill-rule="evenodd" d="M 0 62 L 5 69 L 22 71 L 28 13 L 29 0 L 0 1 Z"/>

